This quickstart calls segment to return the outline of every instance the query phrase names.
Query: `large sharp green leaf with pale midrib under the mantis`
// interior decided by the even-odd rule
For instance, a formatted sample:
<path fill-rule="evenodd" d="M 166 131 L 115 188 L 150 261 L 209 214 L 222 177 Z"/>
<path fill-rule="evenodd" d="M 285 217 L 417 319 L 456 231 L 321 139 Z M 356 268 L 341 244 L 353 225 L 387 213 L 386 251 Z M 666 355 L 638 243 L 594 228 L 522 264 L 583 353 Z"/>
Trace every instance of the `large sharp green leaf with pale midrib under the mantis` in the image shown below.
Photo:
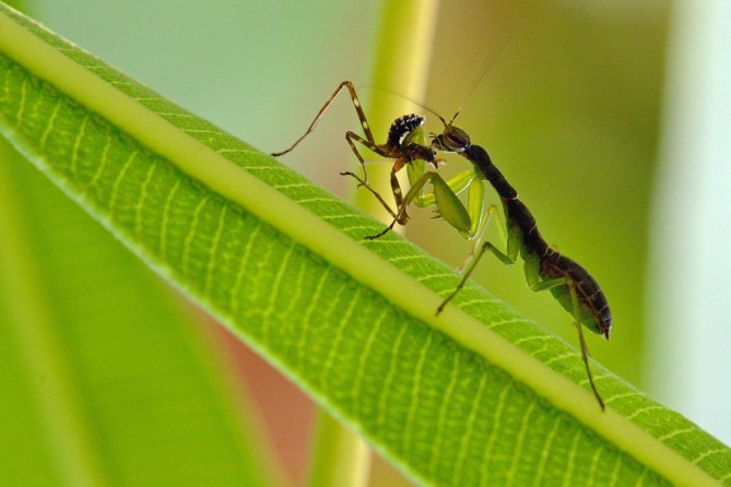
<path fill-rule="evenodd" d="M 271 157 L 9 9 L 0 131 L 413 478 L 731 483 L 731 452 Z M 580 384 L 580 385 L 579 385 Z"/>

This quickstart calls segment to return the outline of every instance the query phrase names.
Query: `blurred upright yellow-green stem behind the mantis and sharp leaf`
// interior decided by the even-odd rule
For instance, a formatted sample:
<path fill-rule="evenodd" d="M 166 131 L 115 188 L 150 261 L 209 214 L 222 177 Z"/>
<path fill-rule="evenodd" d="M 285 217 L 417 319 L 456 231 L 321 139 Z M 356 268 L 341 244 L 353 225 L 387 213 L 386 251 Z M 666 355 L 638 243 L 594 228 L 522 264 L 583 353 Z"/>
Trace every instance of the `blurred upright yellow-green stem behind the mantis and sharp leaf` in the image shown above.
<path fill-rule="evenodd" d="M 372 92 L 366 104 L 366 116 L 376 142 L 386 139 L 386 131 L 397 117 L 413 110 L 409 99 L 421 100 L 424 97 L 438 7 L 438 0 L 382 0 L 380 3 L 370 85 L 388 92 Z M 389 173 L 388 164 L 368 166 L 372 187 L 385 198 L 391 193 Z M 390 223 L 388 213 L 367 191 L 357 191 L 355 201 L 359 207 Z M 310 485 L 365 486 L 369 456 L 368 448 L 357 435 L 321 413 L 310 466 Z"/>

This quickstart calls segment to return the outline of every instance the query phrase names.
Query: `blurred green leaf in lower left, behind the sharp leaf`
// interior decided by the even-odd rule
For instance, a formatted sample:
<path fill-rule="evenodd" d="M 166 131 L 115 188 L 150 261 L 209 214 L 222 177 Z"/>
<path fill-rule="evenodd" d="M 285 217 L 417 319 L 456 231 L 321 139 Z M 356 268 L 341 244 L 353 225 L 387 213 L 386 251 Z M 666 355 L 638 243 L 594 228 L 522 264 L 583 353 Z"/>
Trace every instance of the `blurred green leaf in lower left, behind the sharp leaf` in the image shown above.
<path fill-rule="evenodd" d="M 270 485 L 179 299 L 4 140 L 0 161 L 0 485 Z"/>

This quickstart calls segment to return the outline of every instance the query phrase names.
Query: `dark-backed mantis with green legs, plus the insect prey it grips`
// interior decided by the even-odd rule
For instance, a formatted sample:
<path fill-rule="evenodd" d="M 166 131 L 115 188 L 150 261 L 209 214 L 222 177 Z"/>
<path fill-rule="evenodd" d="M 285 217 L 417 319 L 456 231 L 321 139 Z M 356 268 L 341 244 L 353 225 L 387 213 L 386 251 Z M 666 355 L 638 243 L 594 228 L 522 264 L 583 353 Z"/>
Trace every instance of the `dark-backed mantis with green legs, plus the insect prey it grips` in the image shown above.
<path fill-rule="evenodd" d="M 272 155 L 280 156 L 294 150 L 315 130 L 322 115 L 344 88 L 347 88 L 351 95 L 366 138 L 363 139 L 350 131 L 345 134 L 347 143 L 361 162 L 363 178 L 352 171 L 341 174 L 355 178 L 358 185 L 370 191 L 393 217 L 391 224 L 381 233 L 366 238 L 369 240 L 379 238 L 391 230 L 397 223 L 404 225 L 408 219 L 406 209 L 414 203 L 420 207 L 436 206 L 439 215 L 449 225 L 456 228 L 464 239 L 473 241 L 471 258 L 464 266 L 462 277 L 455 290 L 439 305 L 437 314 L 464 287 L 470 274 L 486 252 L 493 253 L 506 265 L 514 265 L 520 254 L 529 287 L 534 292 L 550 290 L 562 307 L 574 317 L 587 377 L 600 407 L 604 411 L 604 402 L 597 390 L 589 367 L 589 351 L 582 328 L 586 326 L 591 332 L 599 333 L 609 340 L 612 330 L 612 313 L 606 297 L 586 269 L 551 248 L 543 239 L 530 210 L 520 201 L 518 192 L 493 164 L 487 151 L 480 145 L 472 144 L 469 134 L 452 124 L 459 112 L 449 122 L 437 115 L 444 124 L 444 131 L 433 135 L 429 145 L 425 144 L 422 130 L 424 117 L 416 115 L 398 118 L 389 129 L 386 143 L 377 144 L 353 83 L 343 81 L 326 100 L 307 131 L 290 149 Z M 354 142 L 358 142 L 381 157 L 394 161 L 390 173 L 390 183 L 396 210 L 391 209 L 384 198 L 368 185 L 365 159 Z M 440 159 L 437 154 L 439 152 L 459 154 L 471 163 L 470 169 L 448 180 L 434 170 L 427 170 L 428 164 L 435 169 L 438 168 Z M 397 178 L 397 174 L 404 166 L 411 186 L 405 195 Z M 505 251 L 490 241 L 483 241 L 487 223 L 495 213 L 495 206 L 486 203 L 485 182 L 488 182 L 500 198 L 505 215 Z M 432 191 L 427 191 L 427 185 L 432 186 Z M 467 206 L 458 198 L 458 194 L 465 190 L 468 190 Z"/>

